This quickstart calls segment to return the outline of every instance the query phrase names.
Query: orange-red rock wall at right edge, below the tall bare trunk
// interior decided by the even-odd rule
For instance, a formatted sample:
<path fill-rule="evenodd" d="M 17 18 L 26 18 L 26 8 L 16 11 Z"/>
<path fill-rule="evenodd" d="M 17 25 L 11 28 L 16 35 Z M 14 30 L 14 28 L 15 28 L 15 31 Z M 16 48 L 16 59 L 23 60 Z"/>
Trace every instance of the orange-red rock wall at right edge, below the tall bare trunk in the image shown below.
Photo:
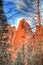
<path fill-rule="evenodd" d="M 38 25 L 36 26 L 34 40 L 35 40 L 35 47 L 38 45 L 38 43 L 40 43 L 41 50 L 43 50 L 43 26 Z"/>

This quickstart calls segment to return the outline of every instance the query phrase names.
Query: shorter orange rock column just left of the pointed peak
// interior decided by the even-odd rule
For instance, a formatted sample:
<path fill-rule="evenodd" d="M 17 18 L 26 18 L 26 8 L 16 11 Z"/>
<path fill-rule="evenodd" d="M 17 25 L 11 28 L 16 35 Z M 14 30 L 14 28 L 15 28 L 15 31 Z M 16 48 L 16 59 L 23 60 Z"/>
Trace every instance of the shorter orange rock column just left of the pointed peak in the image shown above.
<path fill-rule="evenodd" d="M 7 29 L 9 31 L 9 41 L 8 41 L 8 43 L 13 44 L 13 39 L 14 39 L 15 33 L 16 33 L 16 27 L 15 26 L 11 27 L 11 25 L 8 25 Z"/>

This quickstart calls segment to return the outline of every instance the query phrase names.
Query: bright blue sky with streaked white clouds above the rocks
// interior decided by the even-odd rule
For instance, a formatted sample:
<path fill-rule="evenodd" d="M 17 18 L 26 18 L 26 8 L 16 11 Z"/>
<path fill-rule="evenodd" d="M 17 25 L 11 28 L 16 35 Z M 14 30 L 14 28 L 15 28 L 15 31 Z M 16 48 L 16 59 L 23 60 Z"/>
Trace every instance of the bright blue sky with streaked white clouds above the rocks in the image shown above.
<path fill-rule="evenodd" d="M 17 28 L 19 21 L 25 18 L 30 26 L 35 29 L 37 23 L 37 10 L 35 7 L 37 7 L 37 5 L 34 4 L 33 0 L 3 0 L 3 9 L 8 22 Z M 40 13 L 43 23 L 43 0 L 40 1 L 40 9 L 42 10 Z M 36 17 L 34 17 L 34 15 Z"/>

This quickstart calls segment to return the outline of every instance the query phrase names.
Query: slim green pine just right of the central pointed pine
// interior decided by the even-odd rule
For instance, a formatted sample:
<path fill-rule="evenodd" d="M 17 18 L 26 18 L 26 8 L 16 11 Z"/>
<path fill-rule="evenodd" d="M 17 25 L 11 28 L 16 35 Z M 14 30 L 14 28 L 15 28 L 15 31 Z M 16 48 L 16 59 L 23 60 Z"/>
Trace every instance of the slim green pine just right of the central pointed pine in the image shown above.
<path fill-rule="evenodd" d="M 32 50 L 33 46 L 31 45 L 31 42 L 28 42 L 27 45 L 27 65 L 32 65 Z"/>

